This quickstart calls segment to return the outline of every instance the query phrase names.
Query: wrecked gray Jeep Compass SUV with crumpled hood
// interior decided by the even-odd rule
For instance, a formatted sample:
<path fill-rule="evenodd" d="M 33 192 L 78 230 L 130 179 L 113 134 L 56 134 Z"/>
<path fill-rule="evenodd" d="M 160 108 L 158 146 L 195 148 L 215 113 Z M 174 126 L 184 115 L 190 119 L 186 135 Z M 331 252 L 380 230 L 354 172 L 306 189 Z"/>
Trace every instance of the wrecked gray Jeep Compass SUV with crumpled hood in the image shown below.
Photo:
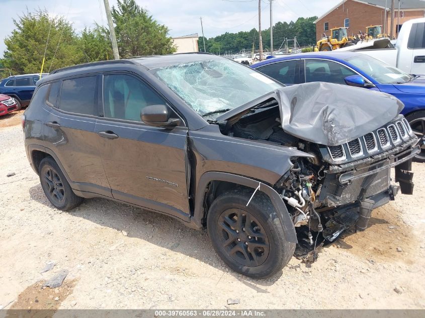
<path fill-rule="evenodd" d="M 229 267 L 262 278 L 412 193 L 419 147 L 402 108 L 380 92 L 284 87 L 225 58 L 176 54 L 55 70 L 23 126 L 58 209 L 103 197 L 166 214 L 206 228 Z"/>

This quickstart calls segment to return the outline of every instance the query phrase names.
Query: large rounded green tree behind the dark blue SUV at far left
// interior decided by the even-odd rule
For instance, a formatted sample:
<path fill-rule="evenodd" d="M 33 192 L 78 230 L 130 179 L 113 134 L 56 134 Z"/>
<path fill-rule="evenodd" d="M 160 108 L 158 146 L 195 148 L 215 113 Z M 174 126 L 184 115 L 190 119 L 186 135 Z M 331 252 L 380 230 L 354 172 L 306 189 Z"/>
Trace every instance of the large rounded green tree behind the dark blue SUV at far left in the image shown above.
<path fill-rule="evenodd" d="M 5 39 L 2 62 L 6 68 L 15 73 L 40 72 L 47 38 L 43 72 L 80 63 L 82 51 L 77 46 L 78 38 L 65 19 L 50 17 L 47 10 L 34 13 L 27 10 L 18 20 L 14 19 L 14 24 L 16 29 Z"/>

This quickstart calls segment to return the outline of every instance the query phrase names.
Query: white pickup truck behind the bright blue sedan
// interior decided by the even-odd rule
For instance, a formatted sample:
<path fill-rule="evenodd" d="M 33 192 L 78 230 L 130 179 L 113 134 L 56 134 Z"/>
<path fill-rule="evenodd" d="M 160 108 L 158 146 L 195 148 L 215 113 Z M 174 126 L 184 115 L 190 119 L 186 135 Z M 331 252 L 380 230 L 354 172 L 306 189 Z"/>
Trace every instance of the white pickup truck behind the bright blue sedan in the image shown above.
<path fill-rule="evenodd" d="M 425 75 L 425 18 L 404 22 L 395 48 L 367 49 L 353 45 L 338 51 L 343 50 L 370 55 L 409 74 Z"/>

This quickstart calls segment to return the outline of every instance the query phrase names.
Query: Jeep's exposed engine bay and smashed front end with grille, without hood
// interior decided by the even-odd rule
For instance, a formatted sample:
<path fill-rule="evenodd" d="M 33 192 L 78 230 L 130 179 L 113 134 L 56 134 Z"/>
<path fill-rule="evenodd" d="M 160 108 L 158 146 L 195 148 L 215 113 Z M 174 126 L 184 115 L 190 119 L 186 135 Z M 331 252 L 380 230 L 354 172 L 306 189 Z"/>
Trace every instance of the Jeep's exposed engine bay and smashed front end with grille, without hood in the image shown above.
<path fill-rule="evenodd" d="M 372 210 L 401 190 L 412 194 L 411 158 L 416 137 L 403 116 L 347 143 L 328 146 L 282 129 L 277 100 L 269 100 L 236 120 L 219 123 L 222 134 L 297 148 L 311 157 L 291 158 L 292 168 L 273 185 L 296 228 L 295 256 L 315 260 L 316 249 L 345 230 L 367 228 Z M 392 185 L 390 168 L 396 168 Z"/>

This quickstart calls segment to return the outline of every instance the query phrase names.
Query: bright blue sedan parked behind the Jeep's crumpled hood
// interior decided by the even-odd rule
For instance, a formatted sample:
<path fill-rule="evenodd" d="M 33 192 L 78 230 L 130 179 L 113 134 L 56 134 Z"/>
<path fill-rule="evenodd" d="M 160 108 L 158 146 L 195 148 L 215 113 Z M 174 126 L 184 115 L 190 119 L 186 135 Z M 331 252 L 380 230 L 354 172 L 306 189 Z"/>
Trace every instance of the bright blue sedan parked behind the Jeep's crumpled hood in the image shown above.
<path fill-rule="evenodd" d="M 404 103 L 401 114 L 418 138 L 425 134 L 425 76 L 407 74 L 366 54 L 348 51 L 285 55 L 250 67 L 285 85 L 322 81 L 391 94 Z M 415 159 L 425 162 L 425 143 Z"/>

